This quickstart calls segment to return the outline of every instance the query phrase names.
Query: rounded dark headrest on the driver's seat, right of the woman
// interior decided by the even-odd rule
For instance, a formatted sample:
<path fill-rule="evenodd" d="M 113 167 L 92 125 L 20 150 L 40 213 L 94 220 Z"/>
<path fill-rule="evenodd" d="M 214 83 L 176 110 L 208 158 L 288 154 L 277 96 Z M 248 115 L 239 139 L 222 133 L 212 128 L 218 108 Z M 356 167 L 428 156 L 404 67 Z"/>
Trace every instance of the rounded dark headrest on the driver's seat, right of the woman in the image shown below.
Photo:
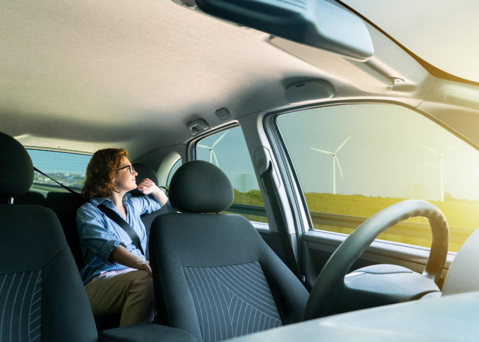
<path fill-rule="evenodd" d="M 181 165 L 170 181 L 170 202 L 181 212 L 220 212 L 235 198 L 233 185 L 218 166 L 204 160 Z"/>

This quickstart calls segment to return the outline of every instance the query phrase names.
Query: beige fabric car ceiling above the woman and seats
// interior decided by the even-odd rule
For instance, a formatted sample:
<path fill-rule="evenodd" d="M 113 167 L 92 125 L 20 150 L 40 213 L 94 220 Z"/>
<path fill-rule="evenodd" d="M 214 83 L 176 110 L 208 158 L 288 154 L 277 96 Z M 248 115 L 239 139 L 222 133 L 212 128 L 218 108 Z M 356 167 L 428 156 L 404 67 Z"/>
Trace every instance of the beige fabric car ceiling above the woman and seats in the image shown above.
<path fill-rule="evenodd" d="M 0 131 L 47 149 L 124 147 L 135 160 L 186 143 L 196 117 L 215 129 L 245 114 L 292 108 L 285 88 L 306 79 L 329 80 L 334 100 L 416 107 L 435 78 L 368 28 L 370 65 L 406 80 L 392 91 L 359 90 L 274 46 L 266 33 L 173 1 L 1 1 Z M 222 107 L 231 112 L 226 120 L 215 115 Z"/>

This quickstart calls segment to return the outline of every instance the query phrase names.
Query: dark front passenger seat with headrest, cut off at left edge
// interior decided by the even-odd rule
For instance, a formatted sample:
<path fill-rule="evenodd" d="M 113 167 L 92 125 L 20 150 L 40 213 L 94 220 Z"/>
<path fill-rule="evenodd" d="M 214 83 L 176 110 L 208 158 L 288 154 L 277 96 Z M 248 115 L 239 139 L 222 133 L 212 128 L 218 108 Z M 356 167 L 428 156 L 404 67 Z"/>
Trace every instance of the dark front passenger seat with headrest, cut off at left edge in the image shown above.
<path fill-rule="evenodd" d="M 0 146 L 10 171 L 0 179 L 0 196 L 21 196 L 32 185 L 33 163 L 14 138 L 0 133 Z M 80 274 L 55 213 L 39 205 L 0 205 L 0 221 L 0 340 L 98 341 Z"/>

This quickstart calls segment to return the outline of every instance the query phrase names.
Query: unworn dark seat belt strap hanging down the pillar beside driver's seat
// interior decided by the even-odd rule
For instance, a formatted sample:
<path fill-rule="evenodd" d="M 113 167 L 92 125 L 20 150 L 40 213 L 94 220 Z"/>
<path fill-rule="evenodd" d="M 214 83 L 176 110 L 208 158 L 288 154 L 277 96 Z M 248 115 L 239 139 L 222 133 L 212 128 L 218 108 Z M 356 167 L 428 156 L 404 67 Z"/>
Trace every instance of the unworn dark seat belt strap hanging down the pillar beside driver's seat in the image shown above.
<path fill-rule="evenodd" d="M 286 259 L 286 265 L 296 277 L 305 284 L 305 277 L 301 275 L 296 257 L 294 256 L 293 245 L 289 238 L 289 233 L 286 228 L 286 222 L 284 220 L 283 211 L 281 210 L 280 203 L 278 201 L 278 193 L 273 183 L 273 163 L 270 161 L 266 171 L 261 175 L 264 181 L 264 186 L 268 193 L 269 204 L 273 211 L 274 220 L 276 222 L 276 228 L 278 228 L 278 234 L 280 235 L 281 245 L 283 246 L 284 257 Z"/>

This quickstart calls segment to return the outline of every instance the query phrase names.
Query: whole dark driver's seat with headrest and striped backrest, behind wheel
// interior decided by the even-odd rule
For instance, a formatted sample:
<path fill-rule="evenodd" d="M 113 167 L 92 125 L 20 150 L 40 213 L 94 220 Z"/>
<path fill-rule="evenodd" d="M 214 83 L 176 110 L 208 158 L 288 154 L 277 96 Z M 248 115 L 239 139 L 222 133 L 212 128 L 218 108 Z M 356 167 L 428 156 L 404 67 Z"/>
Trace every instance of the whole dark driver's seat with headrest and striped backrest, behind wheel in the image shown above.
<path fill-rule="evenodd" d="M 218 214 L 233 198 L 223 171 L 207 161 L 190 161 L 170 182 L 170 201 L 180 212 L 152 223 L 150 264 L 159 321 L 201 341 L 300 322 L 309 296 L 247 219 Z"/>

